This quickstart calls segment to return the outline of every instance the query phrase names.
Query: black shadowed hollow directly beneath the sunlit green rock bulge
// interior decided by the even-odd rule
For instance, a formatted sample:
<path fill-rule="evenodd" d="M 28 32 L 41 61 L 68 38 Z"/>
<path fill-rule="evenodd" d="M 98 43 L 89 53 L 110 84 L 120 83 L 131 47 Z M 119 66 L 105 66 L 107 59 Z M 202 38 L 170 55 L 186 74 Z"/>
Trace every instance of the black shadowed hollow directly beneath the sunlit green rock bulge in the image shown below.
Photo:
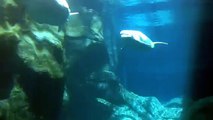
<path fill-rule="evenodd" d="M 64 80 L 53 79 L 23 65 L 19 83 L 28 96 L 31 111 L 44 120 L 58 120 L 62 107 Z M 37 119 L 40 119 L 37 118 Z"/>

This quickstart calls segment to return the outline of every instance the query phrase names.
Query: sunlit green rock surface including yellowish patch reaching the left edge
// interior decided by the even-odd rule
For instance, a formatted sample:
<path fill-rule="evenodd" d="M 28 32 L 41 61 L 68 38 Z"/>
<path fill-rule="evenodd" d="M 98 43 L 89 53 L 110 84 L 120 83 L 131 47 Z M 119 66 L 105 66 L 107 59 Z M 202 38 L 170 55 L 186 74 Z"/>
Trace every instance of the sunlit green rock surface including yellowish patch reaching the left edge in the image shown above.
<path fill-rule="evenodd" d="M 0 26 L 1 41 L 18 41 L 17 54 L 36 72 L 47 72 L 53 78 L 63 76 L 62 66 L 56 61 L 54 51 L 63 51 L 63 33 L 56 27 L 28 22 L 25 26 L 5 22 Z"/>

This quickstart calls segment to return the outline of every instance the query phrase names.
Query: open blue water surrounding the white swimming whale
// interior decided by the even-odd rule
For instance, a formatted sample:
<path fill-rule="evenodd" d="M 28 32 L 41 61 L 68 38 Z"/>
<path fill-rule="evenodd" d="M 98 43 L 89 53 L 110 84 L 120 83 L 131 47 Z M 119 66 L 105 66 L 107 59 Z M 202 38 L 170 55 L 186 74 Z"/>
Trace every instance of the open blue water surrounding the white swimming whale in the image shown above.
<path fill-rule="evenodd" d="M 119 63 L 118 75 L 123 85 L 139 95 L 155 96 L 161 101 L 184 96 L 195 53 L 199 3 L 120 0 L 111 6 L 106 4 L 105 9 L 108 47 L 119 49 L 119 31 L 123 29 L 139 30 L 153 41 L 169 43 L 148 51 L 133 48 L 115 52 L 120 55 L 115 61 Z M 111 48 L 112 54 L 115 48 Z"/>

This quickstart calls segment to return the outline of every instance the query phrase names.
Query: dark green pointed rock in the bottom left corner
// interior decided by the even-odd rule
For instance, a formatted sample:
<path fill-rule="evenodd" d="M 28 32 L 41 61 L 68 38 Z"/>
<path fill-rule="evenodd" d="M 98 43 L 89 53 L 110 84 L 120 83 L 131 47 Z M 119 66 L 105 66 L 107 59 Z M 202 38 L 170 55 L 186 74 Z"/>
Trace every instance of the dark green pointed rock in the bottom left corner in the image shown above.
<path fill-rule="evenodd" d="M 34 120 L 35 116 L 29 110 L 27 96 L 23 89 L 15 84 L 10 97 L 0 100 L 1 120 Z"/>

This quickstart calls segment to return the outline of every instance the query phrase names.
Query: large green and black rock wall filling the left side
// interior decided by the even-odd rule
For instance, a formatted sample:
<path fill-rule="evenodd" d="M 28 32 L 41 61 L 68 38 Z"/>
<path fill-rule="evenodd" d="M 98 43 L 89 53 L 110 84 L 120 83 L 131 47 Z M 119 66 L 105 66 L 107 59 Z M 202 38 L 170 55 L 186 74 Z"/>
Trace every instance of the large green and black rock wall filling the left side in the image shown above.
<path fill-rule="evenodd" d="M 0 1 L 1 120 L 32 120 L 29 109 L 36 120 L 58 119 L 64 88 L 63 39 L 58 28 L 30 20 L 21 0 Z M 17 75 L 24 95 L 14 87 Z"/>

